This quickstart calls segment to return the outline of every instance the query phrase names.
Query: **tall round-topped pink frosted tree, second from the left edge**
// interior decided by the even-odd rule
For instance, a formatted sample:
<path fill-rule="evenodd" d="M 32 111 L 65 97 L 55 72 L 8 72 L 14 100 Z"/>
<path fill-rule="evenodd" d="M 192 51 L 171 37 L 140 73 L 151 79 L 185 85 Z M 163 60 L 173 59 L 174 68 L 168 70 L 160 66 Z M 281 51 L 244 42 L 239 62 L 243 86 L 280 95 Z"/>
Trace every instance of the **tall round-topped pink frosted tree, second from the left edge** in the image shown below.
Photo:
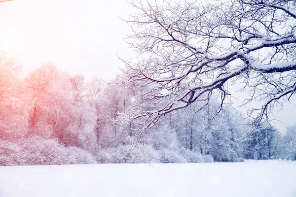
<path fill-rule="evenodd" d="M 37 68 L 26 78 L 34 106 L 30 115 L 30 132 L 44 137 L 63 138 L 63 130 L 71 123 L 75 91 L 69 75 L 48 64 Z"/>

